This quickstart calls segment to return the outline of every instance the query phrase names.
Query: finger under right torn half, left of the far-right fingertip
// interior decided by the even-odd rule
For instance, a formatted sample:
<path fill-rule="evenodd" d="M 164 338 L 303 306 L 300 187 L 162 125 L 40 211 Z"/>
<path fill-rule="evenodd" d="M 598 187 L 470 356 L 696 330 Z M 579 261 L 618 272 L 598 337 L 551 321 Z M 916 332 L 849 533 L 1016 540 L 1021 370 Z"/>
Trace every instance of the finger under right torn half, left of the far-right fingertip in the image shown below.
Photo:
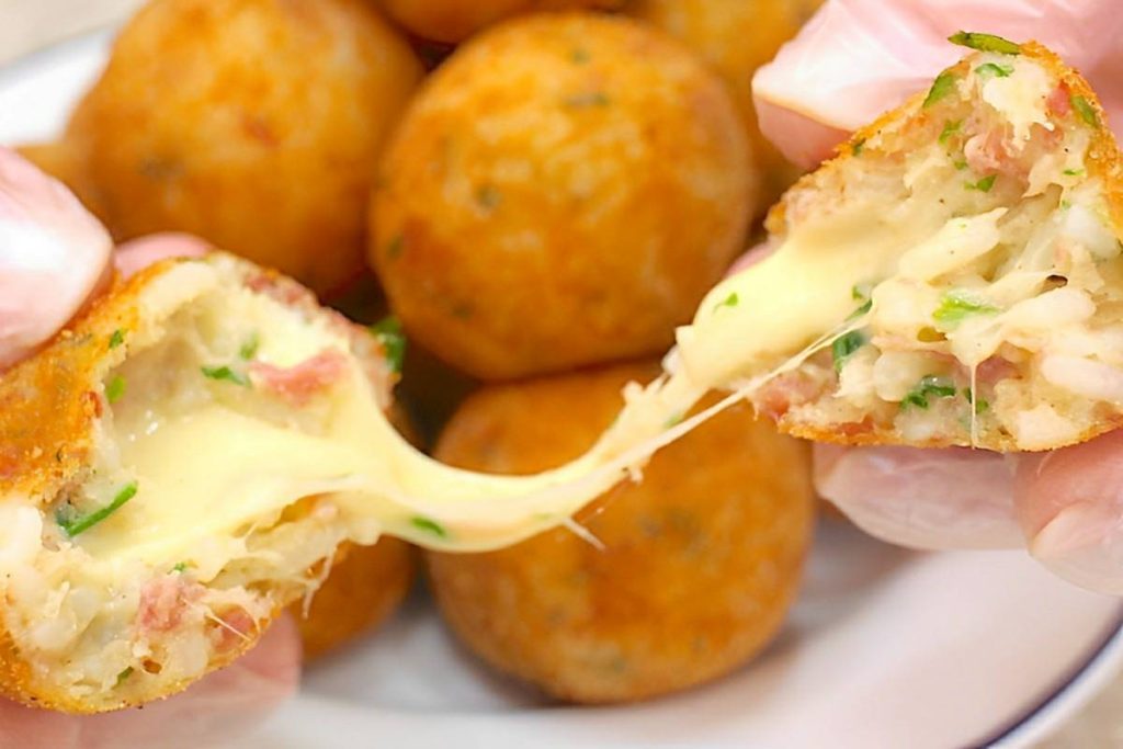
<path fill-rule="evenodd" d="M 1013 469 L 1003 456 L 967 449 L 815 446 L 815 487 L 856 526 L 919 549 L 1023 545 Z"/>

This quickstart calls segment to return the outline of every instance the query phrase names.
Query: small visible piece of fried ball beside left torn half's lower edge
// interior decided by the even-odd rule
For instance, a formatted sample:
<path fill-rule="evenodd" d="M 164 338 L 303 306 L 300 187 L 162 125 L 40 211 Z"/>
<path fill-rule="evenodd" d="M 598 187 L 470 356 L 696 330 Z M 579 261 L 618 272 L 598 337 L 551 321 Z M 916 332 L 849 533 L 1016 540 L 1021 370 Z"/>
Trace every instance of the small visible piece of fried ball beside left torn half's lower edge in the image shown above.
<path fill-rule="evenodd" d="M 305 660 L 372 631 L 398 610 L 413 583 L 417 552 L 405 541 L 386 536 L 341 554 L 346 556 L 312 597 L 308 615 L 302 604 L 292 606 Z"/>

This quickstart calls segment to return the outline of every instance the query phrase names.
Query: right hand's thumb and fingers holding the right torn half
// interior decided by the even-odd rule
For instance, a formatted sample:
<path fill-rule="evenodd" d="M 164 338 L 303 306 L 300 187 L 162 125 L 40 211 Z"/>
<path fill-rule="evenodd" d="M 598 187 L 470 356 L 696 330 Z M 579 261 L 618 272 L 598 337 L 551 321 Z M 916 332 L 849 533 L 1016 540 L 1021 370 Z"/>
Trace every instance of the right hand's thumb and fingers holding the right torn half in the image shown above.
<path fill-rule="evenodd" d="M 1087 74 L 1123 126 L 1113 0 L 829 0 L 754 80 L 764 131 L 814 166 L 848 133 L 926 89 L 959 29 L 1038 39 Z M 754 262 L 750 254 L 739 264 Z M 815 483 L 858 526 L 917 548 L 1026 546 L 1058 575 L 1123 594 L 1123 432 L 1047 454 L 815 447 Z"/>

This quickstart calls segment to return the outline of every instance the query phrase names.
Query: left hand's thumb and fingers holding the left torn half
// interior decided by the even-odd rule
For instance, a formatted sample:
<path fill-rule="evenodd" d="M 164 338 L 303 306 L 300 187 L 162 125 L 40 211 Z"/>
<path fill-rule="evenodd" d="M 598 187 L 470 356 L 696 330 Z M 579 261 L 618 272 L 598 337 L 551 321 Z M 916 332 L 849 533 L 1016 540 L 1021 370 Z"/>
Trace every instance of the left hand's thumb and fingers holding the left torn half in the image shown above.
<path fill-rule="evenodd" d="M 207 245 L 157 235 L 113 250 L 106 229 L 58 182 L 0 148 L 0 371 L 49 340 L 111 277 Z M 0 700 L 0 749 L 200 747 L 243 736 L 295 689 L 300 640 L 279 620 L 247 656 L 184 694 L 104 715 L 75 716 Z"/>

